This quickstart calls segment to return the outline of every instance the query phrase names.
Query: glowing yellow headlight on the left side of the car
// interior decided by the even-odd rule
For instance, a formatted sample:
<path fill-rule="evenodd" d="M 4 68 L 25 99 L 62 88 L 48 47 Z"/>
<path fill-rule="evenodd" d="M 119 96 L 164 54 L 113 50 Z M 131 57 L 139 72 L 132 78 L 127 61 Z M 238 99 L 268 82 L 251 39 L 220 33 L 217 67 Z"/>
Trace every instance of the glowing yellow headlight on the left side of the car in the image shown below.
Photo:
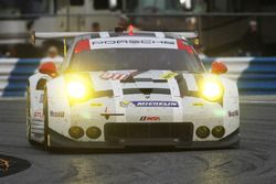
<path fill-rule="evenodd" d="M 71 98 L 82 99 L 86 95 L 85 84 L 78 80 L 72 80 L 67 84 L 67 93 Z"/>

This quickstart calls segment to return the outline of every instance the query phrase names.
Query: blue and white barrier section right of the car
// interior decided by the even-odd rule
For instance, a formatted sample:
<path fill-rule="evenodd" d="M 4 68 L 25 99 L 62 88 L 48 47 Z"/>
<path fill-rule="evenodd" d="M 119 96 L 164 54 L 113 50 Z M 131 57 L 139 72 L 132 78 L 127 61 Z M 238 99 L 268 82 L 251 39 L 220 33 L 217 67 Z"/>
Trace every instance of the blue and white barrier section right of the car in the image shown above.
<path fill-rule="evenodd" d="M 213 61 L 226 64 L 226 77 L 235 80 L 241 94 L 276 94 L 276 57 L 203 58 L 210 68 Z"/>

